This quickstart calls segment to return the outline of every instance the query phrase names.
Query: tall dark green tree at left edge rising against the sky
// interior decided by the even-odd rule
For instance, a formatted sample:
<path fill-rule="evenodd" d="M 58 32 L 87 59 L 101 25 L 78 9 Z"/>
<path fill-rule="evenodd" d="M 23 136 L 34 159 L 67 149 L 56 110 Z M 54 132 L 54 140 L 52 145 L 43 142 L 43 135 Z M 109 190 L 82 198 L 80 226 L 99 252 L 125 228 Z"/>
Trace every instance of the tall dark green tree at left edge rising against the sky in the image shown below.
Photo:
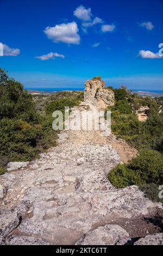
<path fill-rule="evenodd" d="M 32 122 L 36 111 L 32 96 L 23 90 L 23 85 L 0 69 L 0 120 L 3 118 L 22 118 Z"/>

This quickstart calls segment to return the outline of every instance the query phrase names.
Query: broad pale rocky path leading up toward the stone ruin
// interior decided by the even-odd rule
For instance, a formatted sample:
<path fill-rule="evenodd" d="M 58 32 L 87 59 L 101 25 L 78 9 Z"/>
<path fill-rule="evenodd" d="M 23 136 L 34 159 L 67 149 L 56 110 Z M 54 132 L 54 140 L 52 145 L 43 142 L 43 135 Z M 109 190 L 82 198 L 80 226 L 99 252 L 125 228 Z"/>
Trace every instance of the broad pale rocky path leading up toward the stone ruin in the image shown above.
<path fill-rule="evenodd" d="M 158 233 L 146 219 L 154 218 L 161 204 L 136 186 L 115 189 L 106 178 L 122 161 L 117 151 L 124 145 L 117 144 L 99 131 L 62 132 L 59 145 L 39 160 L 1 176 L 0 244 L 86 244 L 87 236 L 92 244 L 125 244 L 130 237 Z"/>

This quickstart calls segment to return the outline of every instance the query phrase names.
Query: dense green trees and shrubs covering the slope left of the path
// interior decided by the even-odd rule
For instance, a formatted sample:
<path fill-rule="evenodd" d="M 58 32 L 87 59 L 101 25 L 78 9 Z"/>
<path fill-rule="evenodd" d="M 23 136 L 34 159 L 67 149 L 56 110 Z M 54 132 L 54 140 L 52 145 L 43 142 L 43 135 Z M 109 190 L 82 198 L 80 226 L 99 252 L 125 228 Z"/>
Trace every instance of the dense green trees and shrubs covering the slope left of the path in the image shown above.
<path fill-rule="evenodd" d="M 20 82 L 0 69 L 0 174 L 8 162 L 32 160 L 57 145 L 52 113 L 79 104 L 82 93 L 71 97 L 58 93 L 40 98 L 41 104 L 34 99 Z"/>

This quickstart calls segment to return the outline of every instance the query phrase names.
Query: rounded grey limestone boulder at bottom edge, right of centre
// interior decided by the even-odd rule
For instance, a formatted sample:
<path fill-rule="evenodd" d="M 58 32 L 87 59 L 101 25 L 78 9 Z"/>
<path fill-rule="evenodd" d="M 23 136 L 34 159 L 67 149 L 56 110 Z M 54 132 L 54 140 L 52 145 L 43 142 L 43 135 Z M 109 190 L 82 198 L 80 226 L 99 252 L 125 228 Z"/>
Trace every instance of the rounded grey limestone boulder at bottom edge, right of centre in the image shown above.
<path fill-rule="evenodd" d="M 86 233 L 76 245 L 126 245 L 130 236 L 118 225 L 105 225 Z"/>

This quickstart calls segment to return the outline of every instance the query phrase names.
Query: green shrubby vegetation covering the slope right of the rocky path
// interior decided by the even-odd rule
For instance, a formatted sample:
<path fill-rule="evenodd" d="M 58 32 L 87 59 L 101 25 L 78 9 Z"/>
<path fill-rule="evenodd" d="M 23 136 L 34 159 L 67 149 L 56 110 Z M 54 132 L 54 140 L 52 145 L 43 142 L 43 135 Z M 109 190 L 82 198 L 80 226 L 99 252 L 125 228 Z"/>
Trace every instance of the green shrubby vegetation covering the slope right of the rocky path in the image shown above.
<path fill-rule="evenodd" d="M 116 102 L 110 108 L 112 132 L 136 147 L 139 155 L 128 164 L 117 165 L 108 178 L 116 188 L 136 184 L 147 197 L 161 201 L 158 198 L 158 187 L 163 184 L 163 115 L 158 104 L 161 99 L 140 98 L 125 87 L 114 92 Z M 140 122 L 135 115 L 141 106 L 150 108 L 146 122 Z"/>

